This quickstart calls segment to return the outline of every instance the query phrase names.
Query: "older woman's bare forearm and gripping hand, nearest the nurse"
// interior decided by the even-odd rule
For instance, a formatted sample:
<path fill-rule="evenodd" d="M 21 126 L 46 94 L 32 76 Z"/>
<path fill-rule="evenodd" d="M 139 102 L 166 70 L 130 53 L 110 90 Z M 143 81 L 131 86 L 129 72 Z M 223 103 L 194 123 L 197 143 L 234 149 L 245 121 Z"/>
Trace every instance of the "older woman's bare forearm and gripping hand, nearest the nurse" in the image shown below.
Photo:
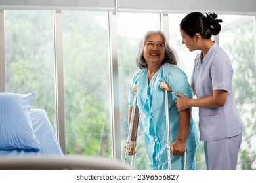
<path fill-rule="evenodd" d="M 171 144 L 173 146 L 173 155 L 181 156 L 186 150 L 186 139 L 190 127 L 191 108 L 179 112 L 179 129 L 177 140 Z"/>

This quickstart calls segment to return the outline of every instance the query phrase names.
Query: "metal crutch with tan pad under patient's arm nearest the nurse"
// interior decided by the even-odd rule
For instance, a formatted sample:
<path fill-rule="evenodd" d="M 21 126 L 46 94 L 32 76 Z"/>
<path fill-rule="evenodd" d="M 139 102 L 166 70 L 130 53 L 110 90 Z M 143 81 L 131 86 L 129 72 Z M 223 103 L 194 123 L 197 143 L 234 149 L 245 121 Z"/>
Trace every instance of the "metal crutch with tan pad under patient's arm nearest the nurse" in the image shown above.
<path fill-rule="evenodd" d="M 165 116 L 166 116 L 166 135 L 167 135 L 167 151 L 168 151 L 168 169 L 171 170 L 171 138 L 170 138 L 170 125 L 169 125 L 169 107 L 168 107 L 168 92 L 171 92 L 171 88 L 166 82 L 160 83 L 160 88 L 165 90 Z M 186 151 L 184 153 L 184 170 L 186 170 Z"/>

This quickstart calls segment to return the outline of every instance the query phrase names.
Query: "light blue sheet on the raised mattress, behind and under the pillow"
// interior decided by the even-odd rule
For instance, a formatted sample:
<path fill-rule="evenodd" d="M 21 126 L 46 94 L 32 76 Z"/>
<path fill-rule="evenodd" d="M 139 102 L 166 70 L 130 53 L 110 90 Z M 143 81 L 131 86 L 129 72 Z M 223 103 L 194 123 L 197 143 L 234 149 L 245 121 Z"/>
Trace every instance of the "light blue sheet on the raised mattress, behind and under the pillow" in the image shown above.
<path fill-rule="evenodd" d="M 64 156 L 45 110 L 31 109 L 30 118 L 41 150 L 0 150 L 0 156 Z"/>

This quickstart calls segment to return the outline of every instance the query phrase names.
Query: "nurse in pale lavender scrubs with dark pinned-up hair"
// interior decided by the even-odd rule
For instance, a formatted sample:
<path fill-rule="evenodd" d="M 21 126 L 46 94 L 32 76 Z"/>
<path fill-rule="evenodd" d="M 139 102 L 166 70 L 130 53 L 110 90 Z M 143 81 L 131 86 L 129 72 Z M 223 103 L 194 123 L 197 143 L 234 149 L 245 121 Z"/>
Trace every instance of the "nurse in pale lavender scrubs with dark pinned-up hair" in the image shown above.
<path fill-rule="evenodd" d="M 182 44 L 188 50 L 201 50 L 196 56 L 190 99 L 182 93 L 175 100 L 178 112 L 199 107 L 200 139 L 204 141 L 207 169 L 236 169 L 242 141 L 242 122 L 233 102 L 233 68 L 226 52 L 211 40 L 221 31 L 217 14 L 188 14 L 180 24 Z"/>

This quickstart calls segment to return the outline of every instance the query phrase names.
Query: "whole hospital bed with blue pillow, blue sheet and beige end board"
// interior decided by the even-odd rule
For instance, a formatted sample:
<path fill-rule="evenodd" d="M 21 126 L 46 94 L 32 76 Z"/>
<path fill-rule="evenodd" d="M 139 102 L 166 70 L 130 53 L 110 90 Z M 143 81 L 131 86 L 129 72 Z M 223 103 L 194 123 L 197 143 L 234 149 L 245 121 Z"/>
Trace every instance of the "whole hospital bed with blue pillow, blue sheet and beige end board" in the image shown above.
<path fill-rule="evenodd" d="M 0 93 L 0 169 L 129 169 L 109 158 L 64 155 L 33 93 Z"/>

